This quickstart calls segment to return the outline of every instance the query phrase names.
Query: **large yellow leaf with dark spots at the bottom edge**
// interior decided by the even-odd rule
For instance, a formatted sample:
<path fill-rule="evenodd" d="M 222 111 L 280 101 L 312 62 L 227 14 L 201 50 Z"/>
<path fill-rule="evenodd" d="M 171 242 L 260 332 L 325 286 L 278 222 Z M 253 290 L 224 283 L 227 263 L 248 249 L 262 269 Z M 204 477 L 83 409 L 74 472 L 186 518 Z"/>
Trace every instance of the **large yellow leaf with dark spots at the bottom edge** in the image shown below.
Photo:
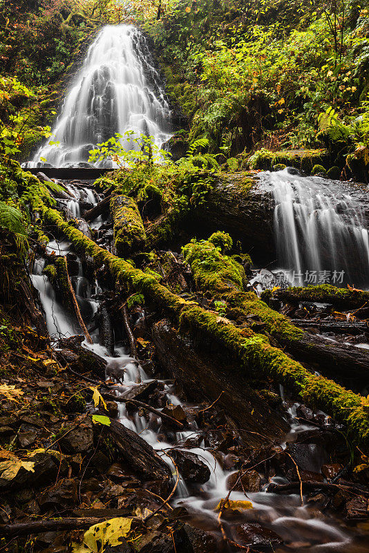
<path fill-rule="evenodd" d="M 123 516 L 97 523 L 86 530 L 82 543 L 72 543 L 72 552 L 103 553 L 104 545 L 122 545 L 120 539 L 128 536 L 131 524 L 132 518 Z"/>

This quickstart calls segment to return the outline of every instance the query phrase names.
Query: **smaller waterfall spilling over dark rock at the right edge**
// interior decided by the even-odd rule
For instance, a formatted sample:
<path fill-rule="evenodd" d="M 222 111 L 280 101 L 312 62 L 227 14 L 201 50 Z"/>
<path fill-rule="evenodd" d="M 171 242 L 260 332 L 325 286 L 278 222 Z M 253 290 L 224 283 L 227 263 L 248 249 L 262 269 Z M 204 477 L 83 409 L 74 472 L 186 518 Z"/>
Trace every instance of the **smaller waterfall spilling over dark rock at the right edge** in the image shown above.
<path fill-rule="evenodd" d="M 271 174 L 278 264 L 295 285 L 369 285 L 363 208 L 338 182 Z M 333 186 L 334 184 L 334 186 Z"/>

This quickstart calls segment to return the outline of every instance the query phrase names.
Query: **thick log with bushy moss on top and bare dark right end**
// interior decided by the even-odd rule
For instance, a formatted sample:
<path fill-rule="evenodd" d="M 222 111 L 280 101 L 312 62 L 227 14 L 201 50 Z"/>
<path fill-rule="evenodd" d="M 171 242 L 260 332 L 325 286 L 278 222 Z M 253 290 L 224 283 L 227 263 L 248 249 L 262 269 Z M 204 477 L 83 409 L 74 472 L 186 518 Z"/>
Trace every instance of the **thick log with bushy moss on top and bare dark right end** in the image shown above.
<path fill-rule="evenodd" d="M 369 382 L 369 353 L 354 346 L 335 343 L 294 326 L 290 319 L 269 308 L 254 292 L 244 292 L 242 266 L 223 255 L 209 241 L 189 243 L 184 248 L 185 261 L 191 266 L 196 284 L 209 290 L 216 299 L 227 301 L 231 317 L 251 328 L 262 329 L 278 346 L 287 348 L 297 359 L 318 365 L 319 371 L 339 377 L 344 382 Z"/>

